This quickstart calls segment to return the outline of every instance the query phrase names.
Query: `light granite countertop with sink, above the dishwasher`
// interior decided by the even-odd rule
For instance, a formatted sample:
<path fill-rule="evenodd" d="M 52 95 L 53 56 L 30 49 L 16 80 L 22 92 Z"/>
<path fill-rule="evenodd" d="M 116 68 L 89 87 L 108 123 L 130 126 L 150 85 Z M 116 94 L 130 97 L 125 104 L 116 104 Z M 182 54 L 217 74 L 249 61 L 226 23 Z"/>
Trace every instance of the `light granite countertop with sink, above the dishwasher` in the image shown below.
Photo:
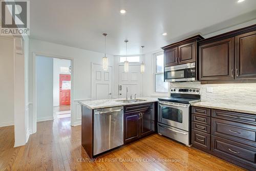
<path fill-rule="evenodd" d="M 115 106 L 133 105 L 133 104 L 141 104 L 141 103 L 158 101 L 158 97 L 138 97 L 137 99 L 142 99 L 146 101 L 124 103 L 122 101 L 116 101 L 116 100 L 125 100 L 124 98 L 116 98 L 116 99 L 78 101 L 78 103 L 80 103 L 81 105 L 87 106 L 89 109 L 101 109 L 101 108 L 111 108 Z"/>

